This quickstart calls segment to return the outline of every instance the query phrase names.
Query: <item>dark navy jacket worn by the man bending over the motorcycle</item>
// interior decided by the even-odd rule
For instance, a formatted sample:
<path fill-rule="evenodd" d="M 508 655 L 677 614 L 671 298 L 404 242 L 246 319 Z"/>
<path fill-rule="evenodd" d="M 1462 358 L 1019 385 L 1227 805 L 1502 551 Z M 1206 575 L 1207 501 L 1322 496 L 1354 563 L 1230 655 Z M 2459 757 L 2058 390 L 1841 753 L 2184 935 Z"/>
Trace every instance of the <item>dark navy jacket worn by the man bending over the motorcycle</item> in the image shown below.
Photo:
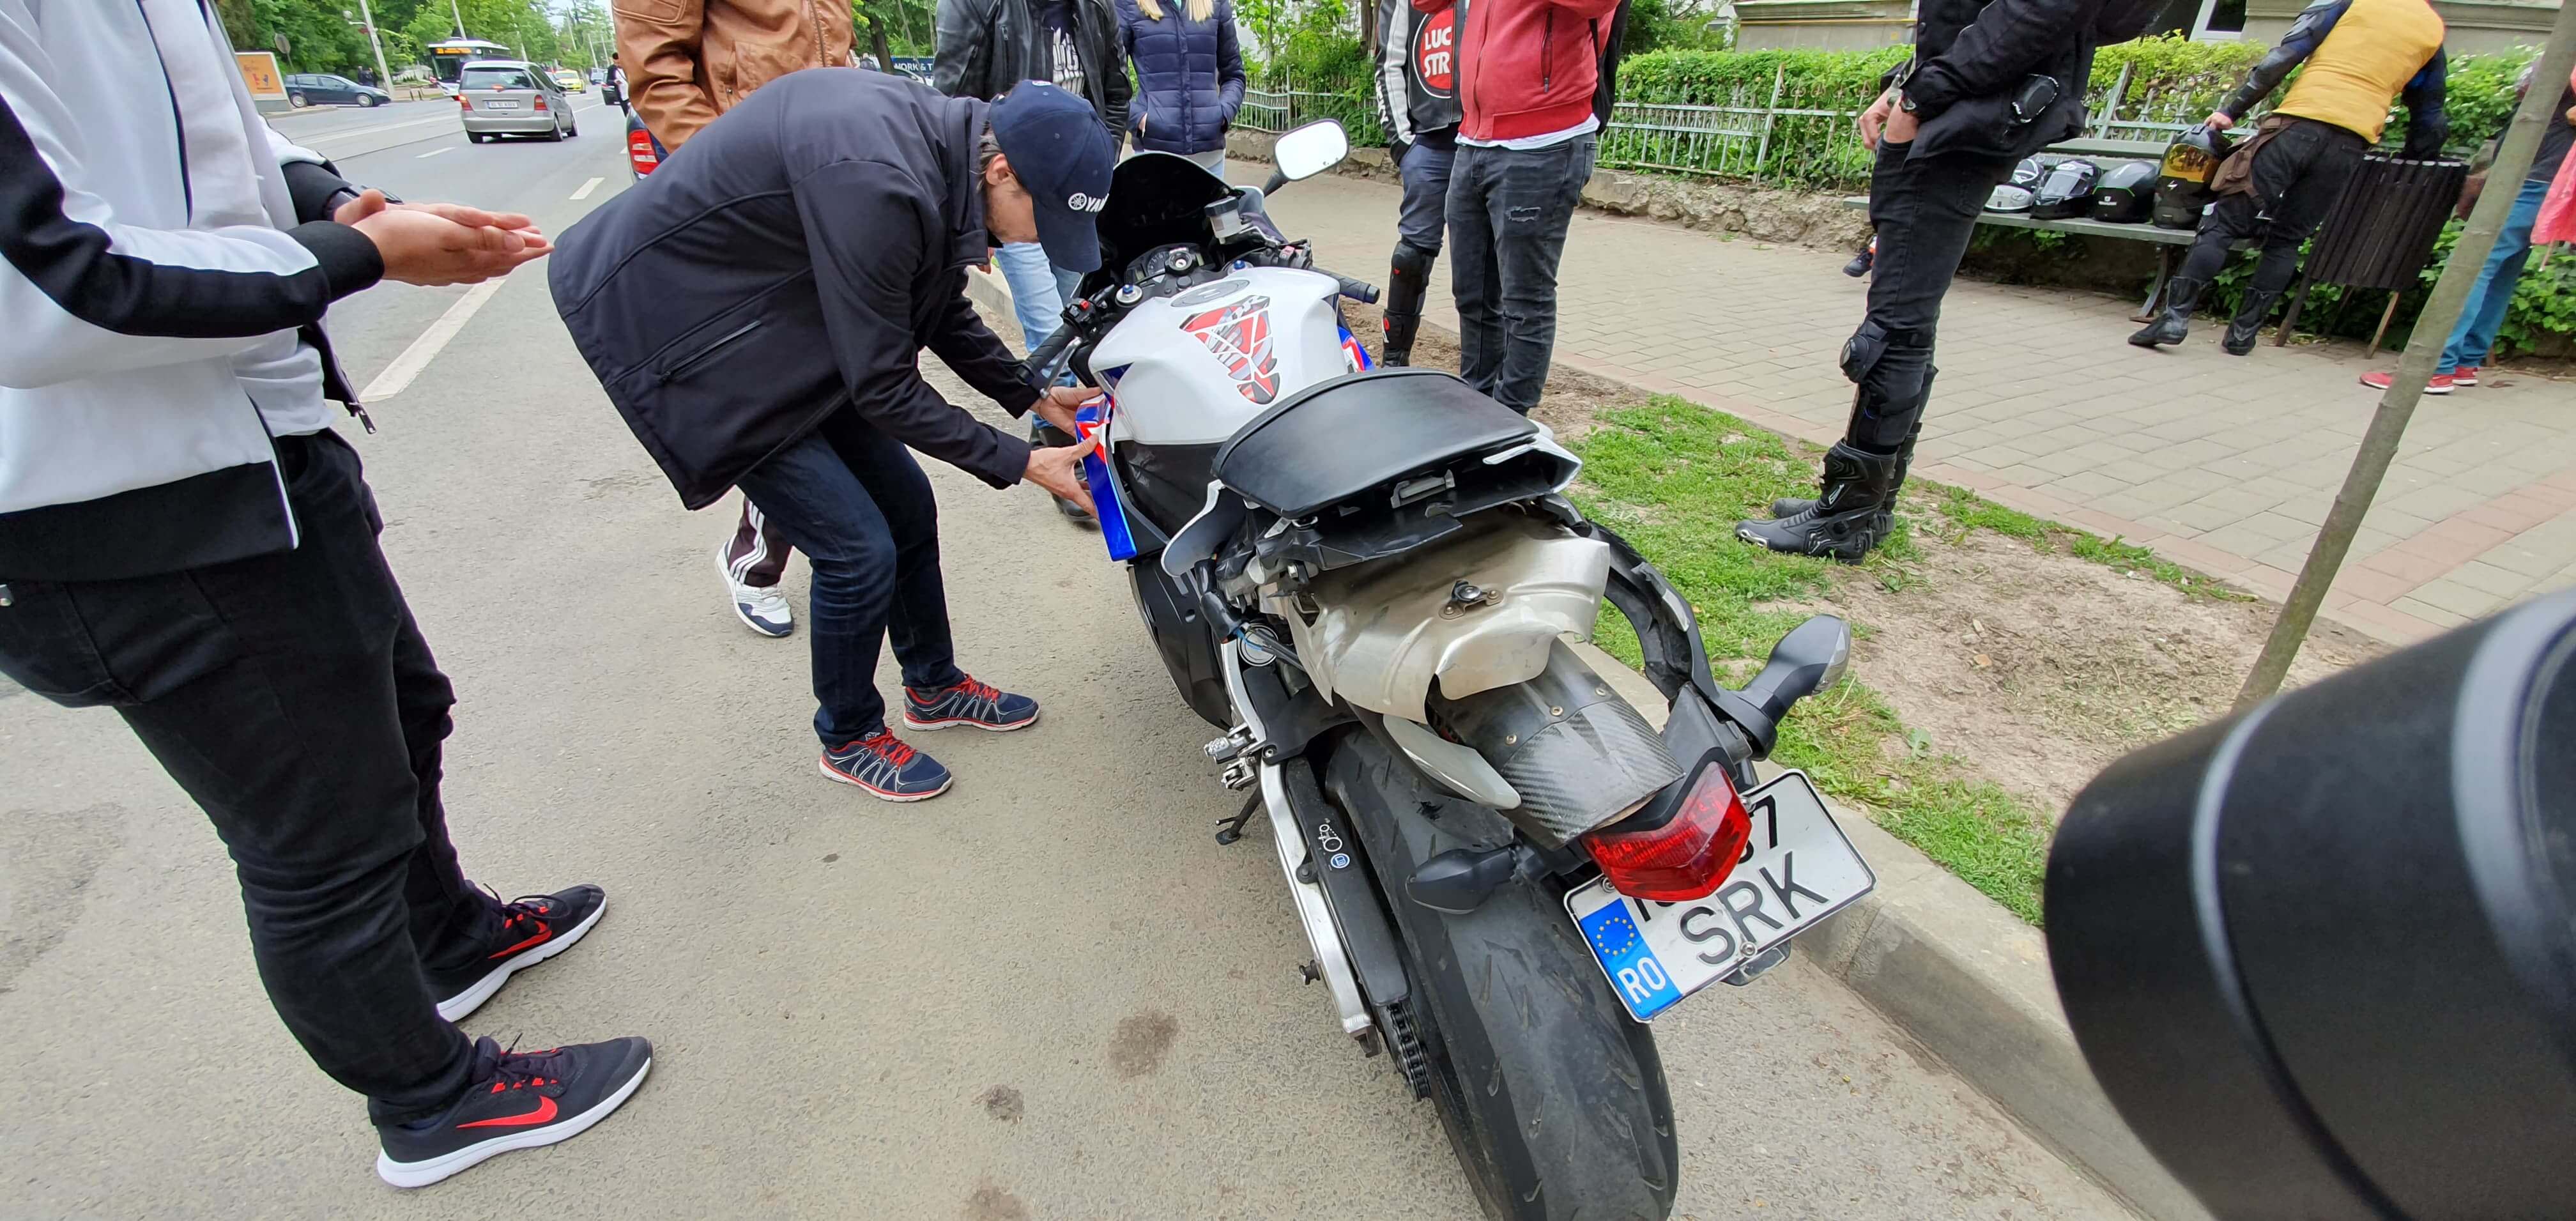
<path fill-rule="evenodd" d="M 966 301 L 984 111 L 884 72 L 791 72 L 556 240 L 554 309 L 683 505 L 845 404 L 994 487 L 1020 479 L 1028 443 L 920 374 L 930 348 L 1012 415 L 1038 399 Z"/>

